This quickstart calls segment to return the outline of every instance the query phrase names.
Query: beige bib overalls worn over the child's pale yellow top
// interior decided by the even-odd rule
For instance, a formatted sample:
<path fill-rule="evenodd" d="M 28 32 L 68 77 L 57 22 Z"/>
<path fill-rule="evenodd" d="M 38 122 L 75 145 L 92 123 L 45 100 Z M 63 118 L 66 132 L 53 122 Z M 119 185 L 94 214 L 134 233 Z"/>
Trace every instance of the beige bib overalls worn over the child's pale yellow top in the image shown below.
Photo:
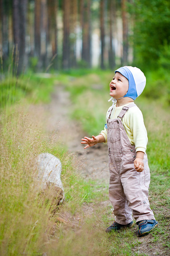
<path fill-rule="evenodd" d="M 133 106 L 136 105 L 123 106 L 119 116 L 113 120 L 110 119 L 111 109 L 107 119 L 109 199 L 114 207 L 115 221 L 123 225 L 132 221 L 132 213 L 136 221 L 155 219 L 148 200 L 150 170 L 147 155 L 145 153 L 143 159 L 143 172 L 137 172 L 134 168 L 135 146 L 130 144 L 121 121 Z"/>

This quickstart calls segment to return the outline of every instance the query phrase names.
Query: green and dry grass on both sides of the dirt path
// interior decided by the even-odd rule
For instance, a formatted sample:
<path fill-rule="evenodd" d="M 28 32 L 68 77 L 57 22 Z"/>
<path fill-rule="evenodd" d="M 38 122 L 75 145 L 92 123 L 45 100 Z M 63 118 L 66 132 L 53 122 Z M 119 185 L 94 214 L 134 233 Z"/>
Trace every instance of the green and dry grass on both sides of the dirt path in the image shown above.
<path fill-rule="evenodd" d="M 168 86 L 164 83 L 166 74 L 161 79 L 163 90 L 158 97 L 155 94 L 149 96 L 159 73 L 147 75 L 153 84 L 148 84 L 147 93 L 141 95 L 136 103 L 142 110 L 148 132 L 147 155 L 151 170 L 149 200 L 159 222 L 149 244 L 153 247 L 161 244 L 162 251 L 167 252 L 170 116 L 166 96 Z M 5 97 L 0 119 L 1 255 L 147 255 L 140 254 L 137 229 L 105 233 L 112 222 L 112 213 L 111 207 L 103 208 L 100 202 L 108 199 L 108 186 L 101 181 L 82 179 L 76 171 L 76 159 L 67 153 L 65 146 L 56 143 L 54 134 L 44 133 L 40 117 L 28 108 L 30 103 L 49 102 L 54 84 L 63 85 L 74 103 L 74 108 L 70 110 L 71 117 L 79 121 L 87 134 L 96 135 L 104 127 L 106 111 L 110 106 L 107 102 L 110 98 L 108 84 L 112 76 L 110 71 L 82 69 L 53 74 L 48 79 L 25 75 L 17 80 L 13 78 L 13 84 L 4 79 L 1 89 Z M 160 91 L 159 82 L 156 88 Z M 32 178 L 36 173 L 35 158 L 42 152 L 52 153 L 62 162 L 61 178 L 66 201 L 56 216 L 51 213 L 50 200 L 45 198 L 44 203 L 39 204 L 39 193 Z M 59 223 L 56 219 L 58 214 L 68 212 L 72 218 L 81 216 L 83 205 L 91 203 L 94 214 L 84 219 L 81 229 Z M 54 223 L 56 230 L 51 235 Z"/>

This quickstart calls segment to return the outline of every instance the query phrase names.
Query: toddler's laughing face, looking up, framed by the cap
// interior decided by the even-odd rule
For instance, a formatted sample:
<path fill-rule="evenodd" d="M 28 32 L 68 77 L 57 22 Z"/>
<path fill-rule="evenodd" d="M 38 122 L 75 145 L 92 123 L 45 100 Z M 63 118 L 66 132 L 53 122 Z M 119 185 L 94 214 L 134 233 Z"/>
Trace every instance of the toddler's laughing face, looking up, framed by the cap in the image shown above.
<path fill-rule="evenodd" d="M 109 86 L 110 86 L 110 96 L 113 97 L 114 99 L 119 99 L 127 93 L 129 89 L 129 81 L 125 76 L 123 76 L 119 72 L 116 72 Z"/>

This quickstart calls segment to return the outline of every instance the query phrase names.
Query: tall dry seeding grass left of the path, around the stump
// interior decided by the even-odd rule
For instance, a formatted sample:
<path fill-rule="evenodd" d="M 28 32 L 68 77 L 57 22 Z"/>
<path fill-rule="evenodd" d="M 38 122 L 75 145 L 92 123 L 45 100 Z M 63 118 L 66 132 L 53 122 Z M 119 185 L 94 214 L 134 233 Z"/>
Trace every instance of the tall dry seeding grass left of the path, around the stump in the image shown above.
<path fill-rule="evenodd" d="M 43 87 L 37 78 L 34 88 L 30 79 L 25 86 L 26 75 L 22 78 L 13 73 L 6 75 L 7 78 L 1 78 L 0 255 L 43 255 L 52 253 L 54 248 L 55 253 L 59 253 L 63 251 L 65 239 L 64 226 L 61 226 L 64 224 L 58 222 L 58 216 L 69 212 L 70 218 L 79 216 L 81 223 L 84 215 L 82 204 L 96 197 L 101 200 L 103 192 L 95 192 L 92 184 L 94 187 L 98 184 L 94 181 L 90 184 L 82 180 L 76 173 L 74 155 L 68 154 L 58 143 L 57 134 L 46 135 L 41 128 L 44 113 L 29 106 L 29 102 L 36 102 L 35 99 L 39 98 L 39 89 L 43 101 L 50 97 L 54 80 L 43 81 Z M 37 156 L 43 152 L 54 154 L 62 162 L 61 178 L 66 200 L 55 215 L 53 188 L 42 194 L 37 180 Z M 66 246 L 64 250 L 69 248 Z"/>

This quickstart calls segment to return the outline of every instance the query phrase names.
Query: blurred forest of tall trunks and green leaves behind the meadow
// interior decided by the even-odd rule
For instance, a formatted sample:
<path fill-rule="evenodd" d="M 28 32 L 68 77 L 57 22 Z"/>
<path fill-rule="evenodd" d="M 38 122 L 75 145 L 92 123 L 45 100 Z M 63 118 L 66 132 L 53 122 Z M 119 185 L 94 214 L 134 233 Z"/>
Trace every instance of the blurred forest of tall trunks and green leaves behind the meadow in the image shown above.
<path fill-rule="evenodd" d="M 3 69 L 170 68 L 168 0 L 0 0 Z M 52 63 L 51 63 L 52 59 Z"/>

